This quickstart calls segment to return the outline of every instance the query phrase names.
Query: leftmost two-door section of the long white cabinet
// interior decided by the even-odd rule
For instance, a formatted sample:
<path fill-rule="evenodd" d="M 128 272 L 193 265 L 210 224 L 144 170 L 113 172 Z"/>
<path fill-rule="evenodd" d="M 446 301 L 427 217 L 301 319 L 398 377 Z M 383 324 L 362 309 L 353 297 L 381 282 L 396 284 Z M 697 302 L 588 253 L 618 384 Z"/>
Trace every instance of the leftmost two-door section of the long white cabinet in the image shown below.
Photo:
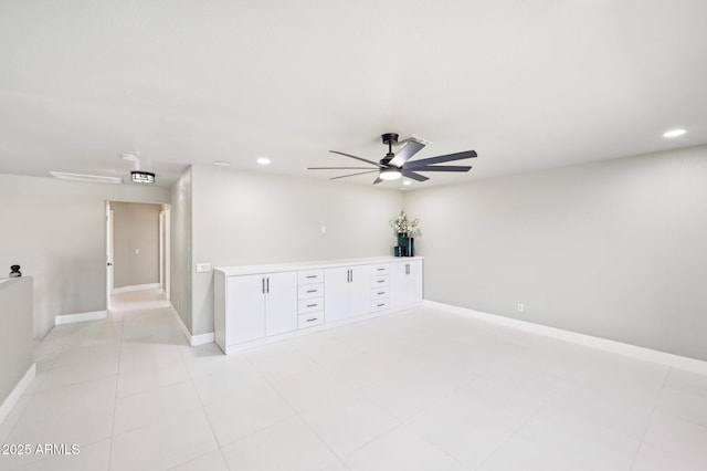
<path fill-rule="evenodd" d="M 297 328 L 297 273 L 229 276 L 225 345 Z"/>

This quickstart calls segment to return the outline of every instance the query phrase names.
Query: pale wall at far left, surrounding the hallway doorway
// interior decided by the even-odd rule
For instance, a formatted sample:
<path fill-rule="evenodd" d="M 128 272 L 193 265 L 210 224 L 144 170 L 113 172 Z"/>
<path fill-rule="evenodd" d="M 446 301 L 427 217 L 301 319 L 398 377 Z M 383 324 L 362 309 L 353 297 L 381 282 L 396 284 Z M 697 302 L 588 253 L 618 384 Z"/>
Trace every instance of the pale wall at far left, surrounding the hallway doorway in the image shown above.
<path fill-rule="evenodd" d="M 169 190 L 0 174 L 0 270 L 34 278 L 36 337 L 55 315 L 106 308 L 106 200 L 169 202 Z"/>

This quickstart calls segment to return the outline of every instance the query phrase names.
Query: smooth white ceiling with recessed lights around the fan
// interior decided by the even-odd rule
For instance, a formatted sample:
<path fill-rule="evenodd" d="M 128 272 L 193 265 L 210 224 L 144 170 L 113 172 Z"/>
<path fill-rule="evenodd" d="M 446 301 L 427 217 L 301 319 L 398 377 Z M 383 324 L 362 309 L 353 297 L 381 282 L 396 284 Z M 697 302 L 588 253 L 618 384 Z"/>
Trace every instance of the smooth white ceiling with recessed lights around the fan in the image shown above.
<path fill-rule="evenodd" d="M 703 144 L 705 19 L 705 0 L 0 0 L 0 172 L 127 177 L 133 153 L 161 185 L 214 160 L 328 178 L 306 167 L 378 160 L 386 132 L 432 140 L 415 158 L 478 153 L 419 188 Z"/>

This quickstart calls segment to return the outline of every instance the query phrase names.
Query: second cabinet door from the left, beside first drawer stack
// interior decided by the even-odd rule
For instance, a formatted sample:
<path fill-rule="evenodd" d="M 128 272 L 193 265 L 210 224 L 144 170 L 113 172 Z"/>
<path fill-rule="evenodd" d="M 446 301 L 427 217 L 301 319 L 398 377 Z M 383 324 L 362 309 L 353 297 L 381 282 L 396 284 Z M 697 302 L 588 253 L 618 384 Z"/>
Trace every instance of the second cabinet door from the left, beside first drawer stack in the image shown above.
<path fill-rule="evenodd" d="M 265 276 L 265 335 L 297 328 L 297 272 Z"/>

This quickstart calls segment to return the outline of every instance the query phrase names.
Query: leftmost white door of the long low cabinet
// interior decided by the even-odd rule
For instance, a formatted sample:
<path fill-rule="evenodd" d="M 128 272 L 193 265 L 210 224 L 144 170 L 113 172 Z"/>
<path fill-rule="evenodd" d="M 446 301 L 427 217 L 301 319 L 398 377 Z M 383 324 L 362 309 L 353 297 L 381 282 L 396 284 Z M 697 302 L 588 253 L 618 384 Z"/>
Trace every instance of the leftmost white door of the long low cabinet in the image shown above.
<path fill-rule="evenodd" d="M 265 336 L 263 275 L 229 276 L 226 293 L 225 344 Z"/>

